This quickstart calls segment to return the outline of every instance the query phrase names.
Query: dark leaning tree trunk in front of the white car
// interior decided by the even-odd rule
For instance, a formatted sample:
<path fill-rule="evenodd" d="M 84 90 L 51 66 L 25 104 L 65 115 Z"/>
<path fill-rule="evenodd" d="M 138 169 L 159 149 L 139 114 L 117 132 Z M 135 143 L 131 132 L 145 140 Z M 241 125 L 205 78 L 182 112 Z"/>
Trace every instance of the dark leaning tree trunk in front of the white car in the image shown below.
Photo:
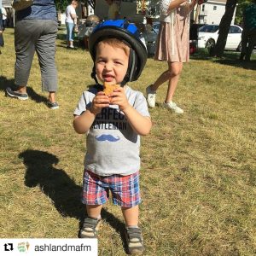
<path fill-rule="evenodd" d="M 224 48 L 226 45 L 228 33 L 230 30 L 230 24 L 236 9 L 237 0 L 227 0 L 225 13 L 219 23 L 219 32 L 217 44 L 210 50 L 210 55 L 221 57 L 224 54 Z"/>

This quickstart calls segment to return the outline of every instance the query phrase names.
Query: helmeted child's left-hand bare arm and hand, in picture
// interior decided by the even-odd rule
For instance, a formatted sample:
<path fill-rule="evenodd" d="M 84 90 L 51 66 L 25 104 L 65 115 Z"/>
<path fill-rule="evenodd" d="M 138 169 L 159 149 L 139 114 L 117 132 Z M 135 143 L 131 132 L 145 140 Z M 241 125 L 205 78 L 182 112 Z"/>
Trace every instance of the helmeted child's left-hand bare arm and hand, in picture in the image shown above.
<path fill-rule="evenodd" d="M 102 108 L 109 107 L 108 96 L 102 91 L 99 91 L 91 102 L 91 107 L 86 109 L 81 115 L 76 115 L 73 120 L 73 128 L 79 133 L 86 133 L 90 130 L 90 126 L 93 124 L 96 114 L 101 113 Z"/>

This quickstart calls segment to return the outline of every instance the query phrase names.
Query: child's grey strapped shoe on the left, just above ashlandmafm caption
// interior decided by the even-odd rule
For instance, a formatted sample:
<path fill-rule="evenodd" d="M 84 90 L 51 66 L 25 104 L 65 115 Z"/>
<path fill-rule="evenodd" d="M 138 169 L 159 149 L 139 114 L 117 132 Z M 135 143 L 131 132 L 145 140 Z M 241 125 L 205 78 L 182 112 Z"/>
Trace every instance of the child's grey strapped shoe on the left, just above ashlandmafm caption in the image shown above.
<path fill-rule="evenodd" d="M 84 224 L 80 230 L 80 238 L 97 238 L 101 219 L 98 218 L 84 218 Z"/>

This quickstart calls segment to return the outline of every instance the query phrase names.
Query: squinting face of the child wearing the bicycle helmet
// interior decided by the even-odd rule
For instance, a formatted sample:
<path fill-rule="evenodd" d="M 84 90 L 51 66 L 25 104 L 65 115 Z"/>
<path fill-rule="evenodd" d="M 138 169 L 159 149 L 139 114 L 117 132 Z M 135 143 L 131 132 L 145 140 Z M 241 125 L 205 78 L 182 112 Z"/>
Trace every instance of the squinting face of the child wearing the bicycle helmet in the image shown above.
<path fill-rule="evenodd" d="M 127 72 L 129 57 L 125 50 L 109 44 L 98 44 L 96 48 L 96 75 L 109 84 L 120 84 Z"/>

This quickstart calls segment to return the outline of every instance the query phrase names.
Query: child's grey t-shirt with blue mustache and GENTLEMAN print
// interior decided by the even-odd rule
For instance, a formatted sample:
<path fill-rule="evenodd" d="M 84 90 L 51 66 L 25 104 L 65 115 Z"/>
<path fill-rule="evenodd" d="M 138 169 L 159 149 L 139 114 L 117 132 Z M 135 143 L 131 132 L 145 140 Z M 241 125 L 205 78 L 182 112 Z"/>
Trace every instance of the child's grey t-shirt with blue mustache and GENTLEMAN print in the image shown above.
<path fill-rule="evenodd" d="M 90 108 L 97 89 L 84 91 L 74 111 L 80 115 Z M 148 105 L 143 93 L 125 86 L 125 95 L 133 108 L 143 116 L 148 116 Z M 140 137 L 132 130 L 125 114 L 117 105 L 102 108 L 96 115 L 86 139 L 87 152 L 84 167 L 100 176 L 113 174 L 130 175 L 140 169 Z"/>

